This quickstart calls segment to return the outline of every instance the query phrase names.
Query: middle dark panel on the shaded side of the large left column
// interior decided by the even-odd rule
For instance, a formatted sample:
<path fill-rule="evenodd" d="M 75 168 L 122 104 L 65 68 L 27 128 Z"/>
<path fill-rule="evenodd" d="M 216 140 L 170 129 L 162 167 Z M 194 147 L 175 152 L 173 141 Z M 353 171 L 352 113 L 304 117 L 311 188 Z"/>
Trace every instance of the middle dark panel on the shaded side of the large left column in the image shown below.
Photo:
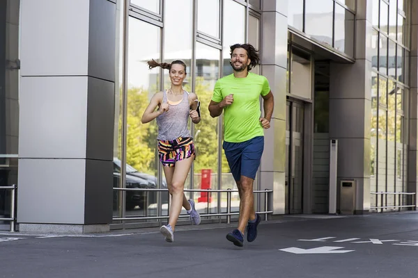
<path fill-rule="evenodd" d="M 113 160 L 114 83 L 88 77 L 86 158 Z"/>

